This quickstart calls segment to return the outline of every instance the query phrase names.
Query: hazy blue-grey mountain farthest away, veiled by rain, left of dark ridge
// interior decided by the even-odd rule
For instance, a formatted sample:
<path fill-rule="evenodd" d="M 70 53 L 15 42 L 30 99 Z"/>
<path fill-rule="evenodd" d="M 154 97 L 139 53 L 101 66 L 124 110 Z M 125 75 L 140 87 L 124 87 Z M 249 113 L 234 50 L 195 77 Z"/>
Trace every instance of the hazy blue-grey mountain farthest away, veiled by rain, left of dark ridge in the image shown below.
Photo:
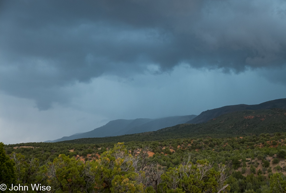
<path fill-rule="evenodd" d="M 108 122 L 106 125 L 98 127 L 92 131 L 74 134 L 69 137 L 62 137 L 61 139 L 56 139 L 53 141 L 45 142 L 60 142 L 66 140 L 80 139 L 80 138 L 90 138 L 90 137 L 107 137 L 107 136 L 118 136 L 131 133 L 140 133 L 147 131 L 156 131 L 169 126 L 175 126 L 177 124 L 185 123 L 188 120 L 193 119 L 196 115 L 186 115 L 186 116 L 174 116 L 165 117 L 160 119 L 134 119 L 125 120 L 118 119 Z"/>

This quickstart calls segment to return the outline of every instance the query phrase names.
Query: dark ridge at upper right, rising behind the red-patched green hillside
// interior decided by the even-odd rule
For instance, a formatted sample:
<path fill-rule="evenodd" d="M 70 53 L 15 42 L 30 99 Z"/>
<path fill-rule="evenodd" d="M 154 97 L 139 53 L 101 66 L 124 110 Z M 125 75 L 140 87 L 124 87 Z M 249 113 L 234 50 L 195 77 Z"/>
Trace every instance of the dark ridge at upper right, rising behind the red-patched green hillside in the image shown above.
<path fill-rule="evenodd" d="M 273 101 L 267 101 L 261 104 L 237 104 L 237 105 L 230 105 L 224 106 L 212 110 L 207 110 L 202 112 L 200 115 L 195 117 L 192 120 L 187 121 L 186 123 L 206 123 L 208 120 L 214 119 L 219 117 L 223 114 L 228 114 L 235 111 L 242 111 L 242 110 L 259 110 L 259 109 L 272 109 L 272 108 L 280 108 L 286 109 L 286 98 L 276 99 Z"/>

